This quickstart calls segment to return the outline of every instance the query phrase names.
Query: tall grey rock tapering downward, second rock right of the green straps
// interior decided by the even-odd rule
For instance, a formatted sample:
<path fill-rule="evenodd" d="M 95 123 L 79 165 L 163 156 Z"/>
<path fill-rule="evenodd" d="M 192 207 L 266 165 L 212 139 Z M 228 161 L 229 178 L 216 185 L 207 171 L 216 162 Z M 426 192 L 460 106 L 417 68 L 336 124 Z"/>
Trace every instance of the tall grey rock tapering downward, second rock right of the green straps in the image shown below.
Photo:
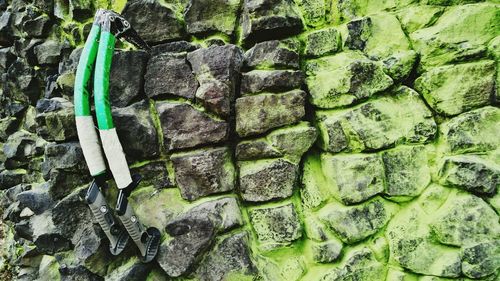
<path fill-rule="evenodd" d="M 196 98 L 210 111 L 228 117 L 236 96 L 243 52 L 235 45 L 211 46 L 188 54 L 199 88 Z"/>

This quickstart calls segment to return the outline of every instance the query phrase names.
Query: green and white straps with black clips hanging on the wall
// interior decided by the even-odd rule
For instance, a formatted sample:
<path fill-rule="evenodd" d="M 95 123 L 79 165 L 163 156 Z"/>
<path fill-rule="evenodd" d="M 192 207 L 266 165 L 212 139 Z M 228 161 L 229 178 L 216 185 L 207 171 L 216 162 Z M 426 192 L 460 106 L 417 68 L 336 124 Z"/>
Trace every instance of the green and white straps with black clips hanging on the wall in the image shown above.
<path fill-rule="evenodd" d="M 158 252 L 160 231 L 154 227 L 145 228 L 139 222 L 132 206 L 128 203 L 128 197 L 139 185 L 141 176 L 130 174 L 111 116 L 109 73 L 117 38 L 123 38 L 138 48 L 150 51 L 148 44 L 138 36 L 125 18 L 113 11 L 103 9 L 97 11 L 80 56 L 74 89 L 78 138 L 85 162 L 93 177 L 87 191 L 86 200 L 109 239 L 109 248 L 113 255 L 118 255 L 123 251 L 130 235 L 141 252 L 142 261 L 150 262 Z M 93 70 L 94 106 L 100 140 L 95 130 L 89 103 L 90 91 L 88 87 Z M 115 210 L 125 229 L 114 219 L 102 194 L 110 177 L 101 150 L 101 142 L 109 169 L 119 189 Z"/>

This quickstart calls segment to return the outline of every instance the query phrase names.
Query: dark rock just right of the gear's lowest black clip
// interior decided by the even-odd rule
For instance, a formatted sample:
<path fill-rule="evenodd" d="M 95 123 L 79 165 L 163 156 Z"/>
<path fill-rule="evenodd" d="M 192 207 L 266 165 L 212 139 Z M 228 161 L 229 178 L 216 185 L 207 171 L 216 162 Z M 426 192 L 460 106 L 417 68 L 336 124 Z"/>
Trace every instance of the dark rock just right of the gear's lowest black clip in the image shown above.
<path fill-rule="evenodd" d="M 157 261 L 168 276 L 186 274 L 210 248 L 215 228 L 208 216 L 189 217 L 167 226 L 172 240 L 164 241 Z"/>

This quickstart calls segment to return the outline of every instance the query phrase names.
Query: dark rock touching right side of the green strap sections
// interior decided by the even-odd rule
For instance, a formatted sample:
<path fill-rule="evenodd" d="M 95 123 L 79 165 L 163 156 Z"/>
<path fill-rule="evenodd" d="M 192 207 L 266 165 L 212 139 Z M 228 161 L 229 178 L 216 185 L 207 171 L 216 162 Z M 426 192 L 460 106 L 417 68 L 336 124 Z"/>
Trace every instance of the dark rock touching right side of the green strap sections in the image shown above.
<path fill-rule="evenodd" d="M 113 55 L 109 74 L 109 98 L 113 106 L 124 107 L 142 97 L 148 58 L 143 51 L 122 51 Z"/>

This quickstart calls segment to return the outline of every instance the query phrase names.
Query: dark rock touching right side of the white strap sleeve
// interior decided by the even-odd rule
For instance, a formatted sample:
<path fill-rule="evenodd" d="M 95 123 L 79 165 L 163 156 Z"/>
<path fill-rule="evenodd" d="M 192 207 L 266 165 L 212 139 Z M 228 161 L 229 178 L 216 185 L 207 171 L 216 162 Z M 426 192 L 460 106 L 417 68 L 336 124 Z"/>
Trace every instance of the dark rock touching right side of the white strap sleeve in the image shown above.
<path fill-rule="evenodd" d="M 147 101 L 114 108 L 113 122 L 129 162 L 144 161 L 159 155 L 159 143 Z"/>

